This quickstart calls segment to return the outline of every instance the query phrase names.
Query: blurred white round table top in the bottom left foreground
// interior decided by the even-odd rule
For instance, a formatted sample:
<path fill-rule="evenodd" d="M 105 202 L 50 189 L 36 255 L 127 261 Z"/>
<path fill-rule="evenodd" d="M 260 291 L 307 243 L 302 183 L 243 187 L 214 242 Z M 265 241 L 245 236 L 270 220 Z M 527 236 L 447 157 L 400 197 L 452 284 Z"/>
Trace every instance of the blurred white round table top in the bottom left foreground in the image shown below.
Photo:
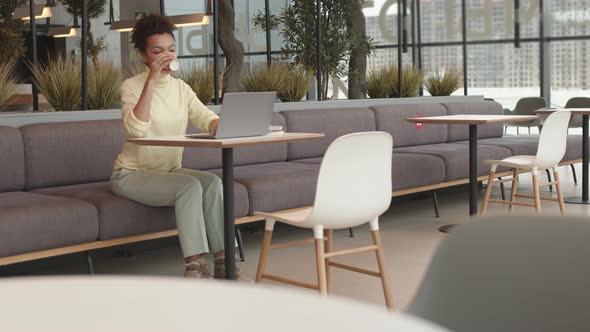
<path fill-rule="evenodd" d="M 0 330 L 11 332 L 446 331 L 381 306 L 224 281 L 8 278 L 0 294 Z"/>

